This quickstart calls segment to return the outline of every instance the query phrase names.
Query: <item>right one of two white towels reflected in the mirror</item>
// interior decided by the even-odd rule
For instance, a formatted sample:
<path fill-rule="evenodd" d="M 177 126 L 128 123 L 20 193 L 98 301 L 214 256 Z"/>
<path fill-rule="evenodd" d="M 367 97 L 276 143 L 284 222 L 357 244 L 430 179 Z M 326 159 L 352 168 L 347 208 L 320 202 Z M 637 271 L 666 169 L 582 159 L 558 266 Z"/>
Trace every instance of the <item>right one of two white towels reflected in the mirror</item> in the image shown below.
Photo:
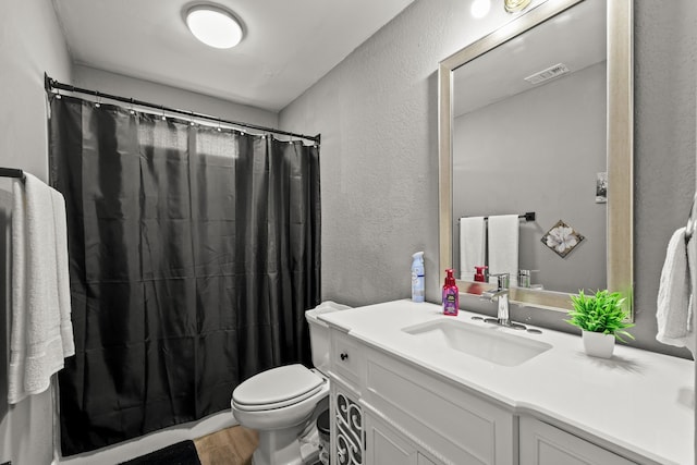
<path fill-rule="evenodd" d="M 509 273 L 512 286 L 518 276 L 519 223 L 517 215 L 489 217 L 489 273 Z M 497 279 L 492 277 L 490 282 Z"/>

